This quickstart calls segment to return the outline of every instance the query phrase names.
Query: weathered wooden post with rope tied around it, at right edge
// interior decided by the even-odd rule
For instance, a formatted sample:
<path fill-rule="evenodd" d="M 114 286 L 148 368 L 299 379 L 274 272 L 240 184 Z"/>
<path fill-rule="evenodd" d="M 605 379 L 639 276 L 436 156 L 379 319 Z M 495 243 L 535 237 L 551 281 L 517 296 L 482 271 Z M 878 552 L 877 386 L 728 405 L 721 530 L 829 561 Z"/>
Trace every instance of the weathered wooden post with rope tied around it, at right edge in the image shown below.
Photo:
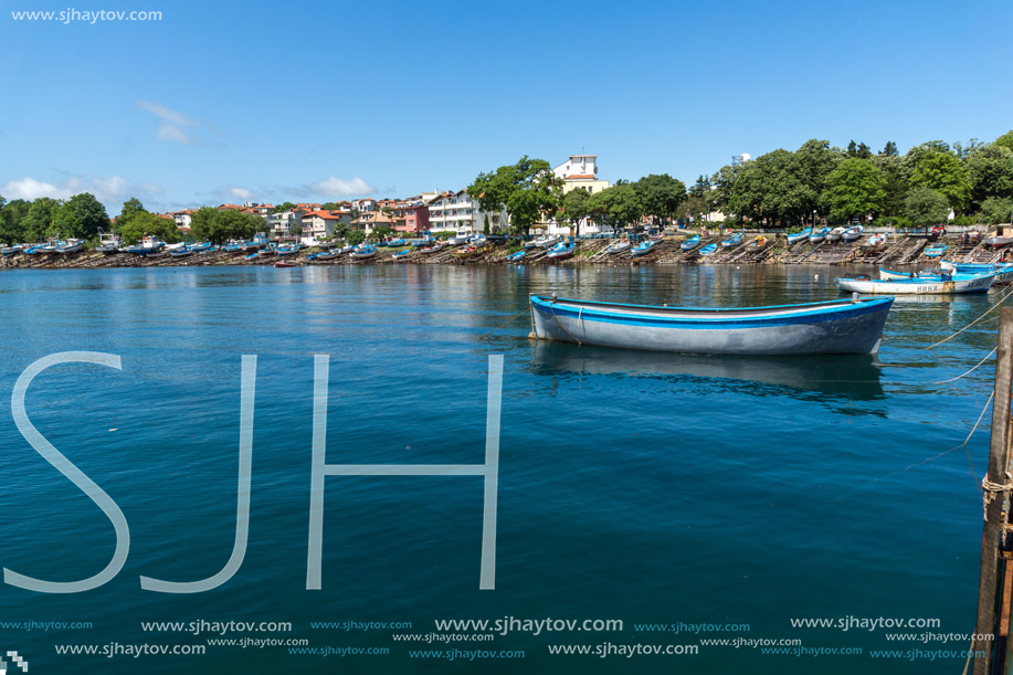
<path fill-rule="evenodd" d="M 1013 386 L 1013 307 L 999 310 L 999 351 L 995 356 L 995 397 L 992 400 L 992 440 L 989 445 L 990 483 L 1004 484 L 1010 464 L 1010 392 Z M 981 577 L 978 586 L 978 622 L 974 632 L 994 634 L 996 595 L 999 594 L 1000 541 L 1002 538 L 1003 495 L 985 507 L 985 523 L 981 537 Z M 974 660 L 973 675 L 988 675 L 992 663 L 992 640 L 978 640 L 974 651 L 985 652 Z"/>

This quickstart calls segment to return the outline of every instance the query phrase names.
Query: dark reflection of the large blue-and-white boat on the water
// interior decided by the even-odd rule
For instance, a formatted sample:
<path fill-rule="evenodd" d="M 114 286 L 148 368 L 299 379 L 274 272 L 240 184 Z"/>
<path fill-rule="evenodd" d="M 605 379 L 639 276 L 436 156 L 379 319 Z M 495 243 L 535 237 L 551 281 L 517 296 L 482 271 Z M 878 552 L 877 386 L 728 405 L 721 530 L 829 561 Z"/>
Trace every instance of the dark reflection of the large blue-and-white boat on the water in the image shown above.
<path fill-rule="evenodd" d="M 784 394 L 832 408 L 885 398 L 879 381 L 879 363 L 872 355 L 698 356 L 538 341 L 531 347 L 531 371 L 545 376 L 699 378 L 709 380 L 709 384 L 717 388 L 741 389 L 760 395 Z M 749 387 L 742 388 L 743 383 Z M 886 414 L 883 405 L 847 405 L 846 411 L 852 414 Z"/>

